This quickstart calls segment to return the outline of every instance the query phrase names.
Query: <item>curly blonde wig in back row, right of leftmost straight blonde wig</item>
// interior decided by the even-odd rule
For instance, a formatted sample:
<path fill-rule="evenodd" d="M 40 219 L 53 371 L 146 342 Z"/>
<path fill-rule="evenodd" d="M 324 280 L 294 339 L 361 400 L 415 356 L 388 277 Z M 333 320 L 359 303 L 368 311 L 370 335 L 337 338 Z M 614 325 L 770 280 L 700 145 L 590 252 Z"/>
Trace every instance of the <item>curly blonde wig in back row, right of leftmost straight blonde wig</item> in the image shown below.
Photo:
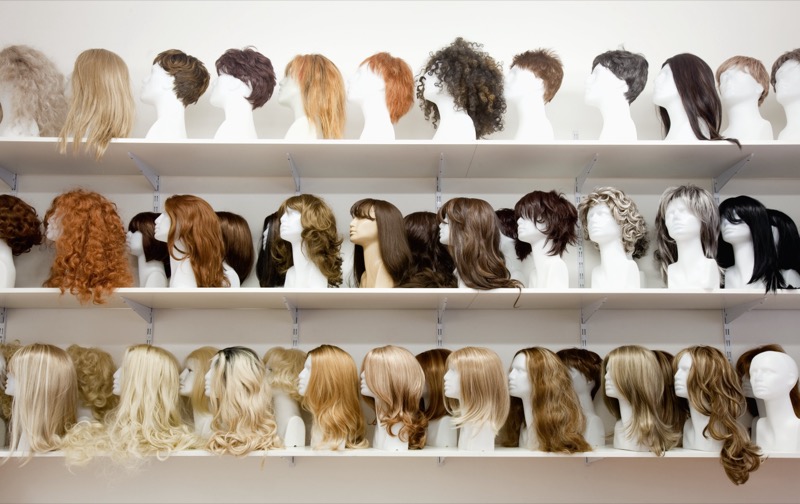
<path fill-rule="evenodd" d="M 70 345 L 67 353 L 75 365 L 78 376 L 80 405 L 92 410 L 100 421 L 119 402 L 111 391 L 114 388 L 114 371 L 117 366 L 111 354 L 99 348 Z"/>

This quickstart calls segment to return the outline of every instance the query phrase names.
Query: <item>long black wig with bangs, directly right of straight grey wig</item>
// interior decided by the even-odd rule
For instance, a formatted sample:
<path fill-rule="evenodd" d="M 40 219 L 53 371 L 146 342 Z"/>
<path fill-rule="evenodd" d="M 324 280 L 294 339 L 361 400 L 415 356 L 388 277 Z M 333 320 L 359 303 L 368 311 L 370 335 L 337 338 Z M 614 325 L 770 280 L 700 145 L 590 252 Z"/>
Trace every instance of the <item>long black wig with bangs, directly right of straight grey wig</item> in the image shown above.
<path fill-rule="evenodd" d="M 775 291 L 783 285 L 783 277 L 778 268 L 778 251 L 775 249 L 772 225 L 766 207 L 750 196 L 736 196 L 720 203 L 719 217 L 720 222 L 724 219 L 731 224 L 744 223 L 750 228 L 755 263 L 753 276 L 747 283 L 764 282 L 767 291 Z M 719 233 L 718 241 L 717 264 L 721 268 L 730 268 L 736 262 L 733 245 L 722 239 L 722 231 Z"/>

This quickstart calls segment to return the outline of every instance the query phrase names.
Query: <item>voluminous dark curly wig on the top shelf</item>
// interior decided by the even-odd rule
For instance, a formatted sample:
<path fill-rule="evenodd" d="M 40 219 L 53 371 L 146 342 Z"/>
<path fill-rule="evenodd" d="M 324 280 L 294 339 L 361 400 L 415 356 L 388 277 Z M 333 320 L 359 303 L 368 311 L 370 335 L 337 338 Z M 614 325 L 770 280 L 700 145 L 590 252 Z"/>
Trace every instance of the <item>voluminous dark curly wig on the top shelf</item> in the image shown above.
<path fill-rule="evenodd" d="M 464 110 L 475 125 L 478 138 L 495 131 L 503 131 L 503 114 L 506 100 L 503 97 L 503 70 L 482 44 L 468 42 L 458 37 L 447 47 L 430 54 L 425 68 L 417 78 L 417 99 L 425 112 L 425 119 L 433 126 L 439 124 L 440 113 L 436 104 L 425 99 L 425 81 L 438 79 L 437 87 L 447 90 L 456 107 Z"/>

